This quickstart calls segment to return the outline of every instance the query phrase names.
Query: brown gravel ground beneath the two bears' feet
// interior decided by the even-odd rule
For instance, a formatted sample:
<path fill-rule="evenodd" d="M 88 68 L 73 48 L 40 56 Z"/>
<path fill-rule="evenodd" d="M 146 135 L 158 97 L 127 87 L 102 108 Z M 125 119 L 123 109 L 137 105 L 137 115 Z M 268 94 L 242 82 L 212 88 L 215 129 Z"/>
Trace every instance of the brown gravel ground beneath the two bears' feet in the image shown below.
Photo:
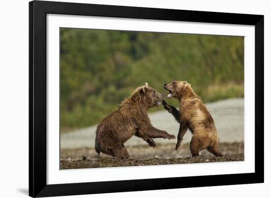
<path fill-rule="evenodd" d="M 207 150 L 203 150 L 200 157 L 191 157 L 188 143 L 182 144 L 177 151 L 174 148 L 174 143 L 158 144 L 155 148 L 148 145 L 127 146 L 130 158 L 126 160 L 105 154 L 98 157 L 94 148 L 62 149 L 61 169 L 244 161 L 243 142 L 220 143 L 224 157 L 215 157 Z"/>

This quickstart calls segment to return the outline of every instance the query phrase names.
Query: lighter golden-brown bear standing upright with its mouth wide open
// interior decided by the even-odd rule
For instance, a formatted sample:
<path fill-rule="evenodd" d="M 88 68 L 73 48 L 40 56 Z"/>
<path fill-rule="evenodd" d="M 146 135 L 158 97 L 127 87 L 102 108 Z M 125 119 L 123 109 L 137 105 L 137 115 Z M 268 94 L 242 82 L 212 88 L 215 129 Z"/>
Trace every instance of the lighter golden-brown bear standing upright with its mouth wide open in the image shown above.
<path fill-rule="evenodd" d="M 180 103 L 178 111 L 163 100 L 164 108 L 180 123 L 175 149 L 180 147 L 183 136 L 189 129 L 193 134 L 190 141 L 190 151 L 193 157 L 199 156 L 200 151 L 205 148 L 215 156 L 223 156 L 219 152 L 214 120 L 191 85 L 183 81 L 173 81 L 165 84 L 164 88 L 169 91 L 167 98 L 176 98 Z"/>

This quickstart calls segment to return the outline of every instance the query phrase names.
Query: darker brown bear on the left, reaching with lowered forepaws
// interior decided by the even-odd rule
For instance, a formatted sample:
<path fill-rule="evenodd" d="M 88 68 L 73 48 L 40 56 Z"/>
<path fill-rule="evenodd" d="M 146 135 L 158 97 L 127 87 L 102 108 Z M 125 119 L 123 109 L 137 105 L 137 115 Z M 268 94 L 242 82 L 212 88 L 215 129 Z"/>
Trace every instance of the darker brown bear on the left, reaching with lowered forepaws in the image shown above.
<path fill-rule="evenodd" d="M 174 135 L 152 126 L 148 109 L 159 106 L 164 95 L 147 83 L 137 87 L 132 96 L 124 100 L 118 110 L 105 117 L 96 130 L 95 150 L 117 158 L 129 157 L 124 142 L 134 135 L 155 147 L 153 138 L 174 139 Z"/>

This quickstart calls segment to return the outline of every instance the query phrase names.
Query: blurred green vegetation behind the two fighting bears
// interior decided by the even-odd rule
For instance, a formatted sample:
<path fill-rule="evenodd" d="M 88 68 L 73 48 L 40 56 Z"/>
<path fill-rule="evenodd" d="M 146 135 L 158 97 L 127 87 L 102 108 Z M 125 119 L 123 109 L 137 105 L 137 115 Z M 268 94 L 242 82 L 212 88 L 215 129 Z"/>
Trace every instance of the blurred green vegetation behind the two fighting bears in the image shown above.
<path fill-rule="evenodd" d="M 243 37 L 61 28 L 62 132 L 97 124 L 145 82 L 167 95 L 173 80 L 203 102 L 243 97 Z"/>

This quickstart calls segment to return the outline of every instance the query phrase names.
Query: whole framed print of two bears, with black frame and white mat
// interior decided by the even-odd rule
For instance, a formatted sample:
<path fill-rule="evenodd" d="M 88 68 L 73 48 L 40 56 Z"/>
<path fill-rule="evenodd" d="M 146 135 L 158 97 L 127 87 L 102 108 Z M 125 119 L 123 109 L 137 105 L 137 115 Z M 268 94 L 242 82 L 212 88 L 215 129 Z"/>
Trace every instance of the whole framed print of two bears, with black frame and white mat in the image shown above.
<path fill-rule="evenodd" d="M 264 182 L 264 16 L 29 13 L 31 197 Z"/>

